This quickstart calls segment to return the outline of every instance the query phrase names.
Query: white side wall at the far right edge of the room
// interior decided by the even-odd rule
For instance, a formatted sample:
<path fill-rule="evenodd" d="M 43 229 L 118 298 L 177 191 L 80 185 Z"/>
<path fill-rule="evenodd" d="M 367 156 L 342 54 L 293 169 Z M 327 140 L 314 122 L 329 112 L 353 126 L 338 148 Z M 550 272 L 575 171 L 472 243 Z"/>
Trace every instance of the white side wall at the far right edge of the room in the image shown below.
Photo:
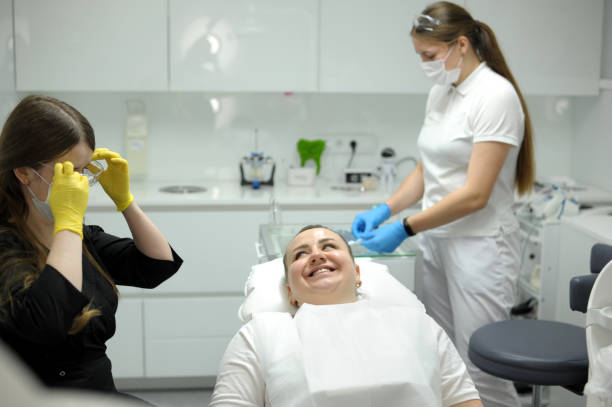
<path fill-rule="evenodd" d="M 612 0 L 605 2 L 603 31 L 602 77 L 612 79 Z M 578 98 L 575 115 L 572 174 L 612 191 L 612 89 Z"/>

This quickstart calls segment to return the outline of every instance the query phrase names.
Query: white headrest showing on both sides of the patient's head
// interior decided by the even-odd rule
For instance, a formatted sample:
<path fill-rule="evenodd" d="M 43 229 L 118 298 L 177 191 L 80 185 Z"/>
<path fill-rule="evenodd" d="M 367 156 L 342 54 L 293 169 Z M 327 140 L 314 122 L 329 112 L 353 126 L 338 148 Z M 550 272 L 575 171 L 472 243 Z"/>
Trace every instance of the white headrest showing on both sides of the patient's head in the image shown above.
<path fill-rule="evenodd" d="M 361 271 L 362 285 L 358 290 L 361 296 L 387 304 L 424 309 L 412 291 L 389 274 L 387 266 L 364 257 L 355 259 L 355 262 Z M 282 258 L 251 267 L 251 274 L 244 285 L 244 295 L 246 298 L 238 310 L 238 318 L 242 322 L 248 322 L 256 312 L 289 312 L 293 315 L 297 311 L 289 304 Z"/>

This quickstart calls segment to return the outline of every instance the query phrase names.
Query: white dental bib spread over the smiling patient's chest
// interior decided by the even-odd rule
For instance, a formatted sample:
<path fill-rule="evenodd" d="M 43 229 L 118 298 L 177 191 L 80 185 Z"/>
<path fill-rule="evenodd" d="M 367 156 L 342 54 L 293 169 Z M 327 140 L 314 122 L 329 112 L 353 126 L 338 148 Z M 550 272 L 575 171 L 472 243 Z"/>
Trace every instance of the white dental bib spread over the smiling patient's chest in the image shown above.
<path fill-rule="evenodd" d="M 266 405 L 441 406 L 437 342 L 418 307 L 304 304 L 253 319 Z"/>

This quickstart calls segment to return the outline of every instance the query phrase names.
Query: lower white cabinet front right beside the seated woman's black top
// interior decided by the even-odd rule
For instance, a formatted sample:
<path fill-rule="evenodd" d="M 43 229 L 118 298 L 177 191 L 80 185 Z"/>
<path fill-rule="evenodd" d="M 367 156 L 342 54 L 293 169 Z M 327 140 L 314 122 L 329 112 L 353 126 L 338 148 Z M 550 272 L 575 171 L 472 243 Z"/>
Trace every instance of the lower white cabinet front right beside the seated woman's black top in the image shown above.
<path fill-rule="evenodd" d="M 108 357 L 115 378 L 144 376 L 143 300 L 120 298 L 115 335 L 108 340 Z"/>

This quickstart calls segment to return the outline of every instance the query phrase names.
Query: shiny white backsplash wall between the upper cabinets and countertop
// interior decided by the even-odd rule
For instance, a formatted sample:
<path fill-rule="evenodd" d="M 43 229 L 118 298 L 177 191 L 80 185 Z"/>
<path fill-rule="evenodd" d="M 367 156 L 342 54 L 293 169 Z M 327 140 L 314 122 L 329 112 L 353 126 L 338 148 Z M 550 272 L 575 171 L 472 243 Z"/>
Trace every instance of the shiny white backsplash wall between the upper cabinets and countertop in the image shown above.
<path fill-rule="evenodd" d="M 2 121 L 24 95 L 7 94 L 0 102 Z M 99 146 L 124 151 L 125 101 L 142 99 L 149 119 L 149 178 L 239 179 L 238 161 L 254 148 L 253 129 L 260 130 L 259 149 L 278 163 L 279 178 L 298 165 L 295 144 L 328 133 L 370 133 L 374 151 L 358 154 L 353 165 L 375 167 L 382 148 L 398 157 L 416 155 L 425 95 L 224 94 L 202 93 L 59 93 L 92 122 Z M 213 113 L 211 98 L 220 101 Z M 569 102 L 563 109 L 565 101 Z M 567 175 L 573 141 L 572 100 L 527 97 L 535 128 L 538 176 Z M 561 106 L 561 109 L 559 108 Z M 559 113 L 555 109 L 560 109 Z M 359 150 L 359 147 L 358 147 Z M 321 176 L 339 180 L 348 154 L 324 153 Z M 310 165 L 310 164 L 309 164 Z M 399 172 L 407 175 L 413 164 Z"/>

